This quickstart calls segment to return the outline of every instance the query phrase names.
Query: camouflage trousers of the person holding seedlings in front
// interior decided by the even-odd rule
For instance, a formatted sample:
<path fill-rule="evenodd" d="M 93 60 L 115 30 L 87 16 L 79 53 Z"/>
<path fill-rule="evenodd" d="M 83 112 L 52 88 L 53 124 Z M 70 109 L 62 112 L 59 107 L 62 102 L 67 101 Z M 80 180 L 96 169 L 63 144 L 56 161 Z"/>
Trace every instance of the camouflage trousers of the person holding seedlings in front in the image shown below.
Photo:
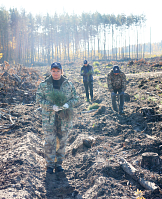
<path fill-rule="evenodd" d="M 43 131 L 45 135 L 44 153 L 46 167 L 61 166 L 64 156 L 68 131 L 61 130 L 61 120 L 55 117 L 43 117 Z"/>

